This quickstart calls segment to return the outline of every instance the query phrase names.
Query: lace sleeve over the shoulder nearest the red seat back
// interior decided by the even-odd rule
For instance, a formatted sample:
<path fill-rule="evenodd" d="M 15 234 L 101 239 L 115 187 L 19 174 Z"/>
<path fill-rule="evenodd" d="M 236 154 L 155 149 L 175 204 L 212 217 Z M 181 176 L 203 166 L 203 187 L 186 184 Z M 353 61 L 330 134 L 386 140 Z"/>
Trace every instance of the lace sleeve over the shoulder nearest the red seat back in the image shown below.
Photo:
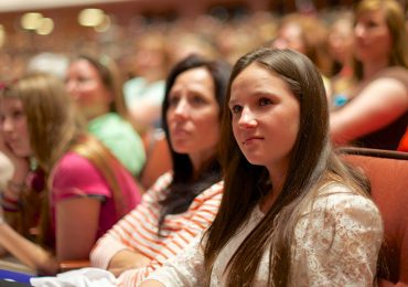
<path fill-rule="evenodd" d="M 293 286 L 373 286 L 383 223 L 369 199 L 351 192 L 318 199 L 294 237 Z"/>

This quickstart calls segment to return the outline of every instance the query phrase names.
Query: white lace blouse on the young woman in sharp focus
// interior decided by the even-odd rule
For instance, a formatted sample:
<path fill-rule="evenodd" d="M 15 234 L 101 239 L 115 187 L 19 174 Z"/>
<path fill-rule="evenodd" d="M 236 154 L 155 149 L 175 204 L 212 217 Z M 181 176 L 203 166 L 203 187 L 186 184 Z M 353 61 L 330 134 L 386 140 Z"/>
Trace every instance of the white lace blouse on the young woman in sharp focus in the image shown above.
<path fill-rule="evenodd" d="M 217 256 L 211 286 L 225 286 L 226 266 L 264 214 L 255 208 L 247 224 Z M 340 184 L 319 191 L 313 206 L 294 230 L 290 286 L 373 286 L 383 241 L 383 222 L 376 205 Z M 200 238 L 148 279 L 165 286 L 201 286 L 203 251 Z M 262 256 L 254 286 L 266 286 L 269 251 Z"/>

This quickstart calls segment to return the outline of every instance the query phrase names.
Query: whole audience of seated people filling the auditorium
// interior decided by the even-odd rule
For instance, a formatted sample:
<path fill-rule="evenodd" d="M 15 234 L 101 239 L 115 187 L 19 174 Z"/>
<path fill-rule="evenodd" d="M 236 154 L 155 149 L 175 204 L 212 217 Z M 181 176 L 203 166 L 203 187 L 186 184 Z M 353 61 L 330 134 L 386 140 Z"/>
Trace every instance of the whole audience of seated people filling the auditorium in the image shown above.
<path fill-rule="evenodd" d="M 1 68 L 2 254 L 37 275 L 86 261 L 119 286 L 375 281 L 380 214 L 335 150 L 408 151 L 397 0 L 127 41 L 58 52 L 63 78 Z"/>

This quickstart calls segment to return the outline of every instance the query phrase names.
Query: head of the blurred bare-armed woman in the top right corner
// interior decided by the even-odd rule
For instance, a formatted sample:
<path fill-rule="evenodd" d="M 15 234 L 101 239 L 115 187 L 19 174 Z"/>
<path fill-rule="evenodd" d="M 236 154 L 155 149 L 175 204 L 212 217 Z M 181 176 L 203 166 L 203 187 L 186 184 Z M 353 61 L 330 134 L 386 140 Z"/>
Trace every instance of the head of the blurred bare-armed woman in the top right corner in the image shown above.
<path fill-rule="evenodd" d="M 405 15 L 395 0 L 363 0 L 355 14 L 355 75 L 363 77 L 362 65 L 387 61 L 389 66 L 408 67 L 408 35 Z"/>

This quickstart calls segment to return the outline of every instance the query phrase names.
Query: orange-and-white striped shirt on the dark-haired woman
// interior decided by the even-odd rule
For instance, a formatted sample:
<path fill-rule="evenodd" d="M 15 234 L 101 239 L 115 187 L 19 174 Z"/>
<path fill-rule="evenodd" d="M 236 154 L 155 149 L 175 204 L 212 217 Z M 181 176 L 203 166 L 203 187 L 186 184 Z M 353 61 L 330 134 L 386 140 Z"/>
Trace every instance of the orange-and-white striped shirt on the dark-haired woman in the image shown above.
<path fill-rule="evenodd" d="M 159 236 L 159 202 L 165 198 L 172 179 L 172 172 L 160 177 L 143 194 L 141 203 L 105 234 L 90 253 L 92 265 L 104 269 L 108 268 L 114 255 L 122 249 L 140 253 L 151 259 L 143 268 L 124 272 L 119 276 L 120 286 L 136 286 L 143 280 L 169 257 L 187 246 L 212 223 L 217 213 L 223 182 L 217 182 L 198 194 L 187 211 L 167 215 Z"/>

